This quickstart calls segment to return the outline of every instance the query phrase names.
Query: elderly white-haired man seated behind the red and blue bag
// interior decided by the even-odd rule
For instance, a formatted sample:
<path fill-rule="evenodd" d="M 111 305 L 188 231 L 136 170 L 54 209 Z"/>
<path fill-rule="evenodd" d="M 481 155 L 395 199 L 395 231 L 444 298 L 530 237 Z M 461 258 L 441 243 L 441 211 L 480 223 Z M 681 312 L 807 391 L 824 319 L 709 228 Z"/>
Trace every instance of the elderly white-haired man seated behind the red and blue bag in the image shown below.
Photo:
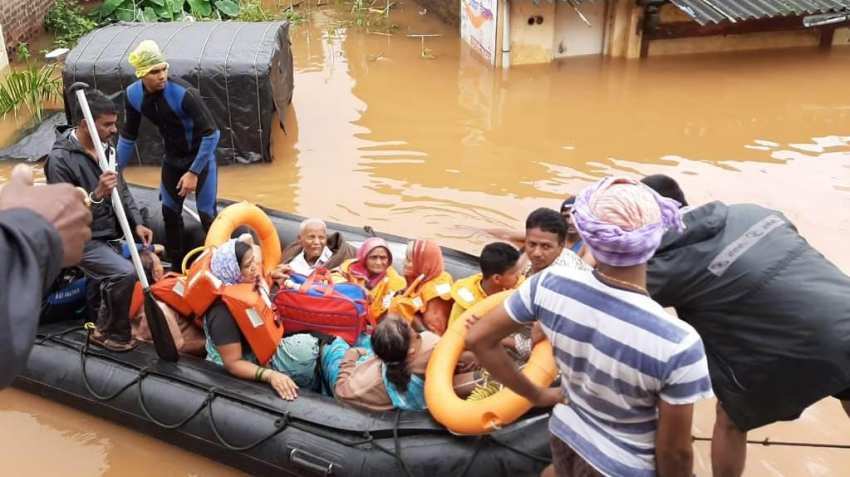
<path fill-rule="evenodd" d="M 283 271 L 310 275 L 317 267 L 334 269 L 356 256 L 357 249 L 339 232 L 328 235 L 323 220 L 306 219 L 298 227 L 298 241 L 283 251 Z"/>

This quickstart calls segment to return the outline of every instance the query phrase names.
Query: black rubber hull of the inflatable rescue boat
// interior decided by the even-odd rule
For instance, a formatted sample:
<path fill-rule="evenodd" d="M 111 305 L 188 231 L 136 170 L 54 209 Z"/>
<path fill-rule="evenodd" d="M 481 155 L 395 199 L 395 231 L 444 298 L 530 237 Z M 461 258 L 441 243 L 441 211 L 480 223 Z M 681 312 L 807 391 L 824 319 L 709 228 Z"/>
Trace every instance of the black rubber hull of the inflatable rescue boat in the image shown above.
<path fill-rule="evenodd" d="M 134 187 L 134 194 L 161 233 L 156 192 Z M 268 212 L 285 243 L 293 240 L 300 217 Z M 329 226 L 350 241 L 368 236 Z M 197 225 L 190 229 L 198 240 Z M 455 276 L 477 268 L 462 252 L 446 249 L 445 258 Z M 40 326 L 16 386 L 254 475 L 521 476 L 537 475 L 550 458 L 547 414 L 490 436 L 453 436 L 427 412 L 362 412 L 308 391 L 286 402 L 199 358 L 167 363 L 150 345 L 111 353 L 85 350 L 85 341 L 79 323 Z"/>

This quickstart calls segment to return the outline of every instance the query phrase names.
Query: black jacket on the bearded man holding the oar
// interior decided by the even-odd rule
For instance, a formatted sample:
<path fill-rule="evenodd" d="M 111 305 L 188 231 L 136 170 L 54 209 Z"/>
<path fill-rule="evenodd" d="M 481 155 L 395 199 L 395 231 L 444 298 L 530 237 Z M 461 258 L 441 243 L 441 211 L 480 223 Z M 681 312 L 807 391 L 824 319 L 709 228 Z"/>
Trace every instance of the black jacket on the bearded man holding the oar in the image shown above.
<path fill-rule="evenodd" d="M 103 173 L 100 166 L 92 158 L 83 146 L 71 136 L 72 129 L 68 126 L 57 128 L 56 142 L 53 150 L 47 155 L 47 163 L 44 165 L 44 175 L 47 182 L 51 184 L 67 182 L 77 187 L 82 187 L 87 192 L 94 192 L 97 182 Z M 113 148 L 109 148 L 107 157 L 114 154 Z M 124 204 L 124 212 L 130 221 L 130 229 L 134 230 L 136 225 L 143 224 L 139 209 L 133 200 L 124 177 L 118 175 L 118 192 L 121 195 L 121 203 Z M 113 240 L 123 237 L 118 218 L 112 209 L 112 201 L 105 198 L 101 204 L 92 204 L 92 238 L 97 240 Z"/>

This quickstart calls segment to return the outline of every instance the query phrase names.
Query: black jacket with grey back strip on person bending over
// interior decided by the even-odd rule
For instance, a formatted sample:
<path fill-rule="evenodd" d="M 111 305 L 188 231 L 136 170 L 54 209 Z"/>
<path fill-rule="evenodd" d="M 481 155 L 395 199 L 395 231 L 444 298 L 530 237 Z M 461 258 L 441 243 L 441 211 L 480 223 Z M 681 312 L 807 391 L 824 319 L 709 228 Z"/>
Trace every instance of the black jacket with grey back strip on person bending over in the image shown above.
<path fill-rule="evenodd" d="M 749 430 L 850 388 L 850 277 L 781 212 L 712 202 L 650 260 L 652 297 L 702 336 L 714 392 Z"/>

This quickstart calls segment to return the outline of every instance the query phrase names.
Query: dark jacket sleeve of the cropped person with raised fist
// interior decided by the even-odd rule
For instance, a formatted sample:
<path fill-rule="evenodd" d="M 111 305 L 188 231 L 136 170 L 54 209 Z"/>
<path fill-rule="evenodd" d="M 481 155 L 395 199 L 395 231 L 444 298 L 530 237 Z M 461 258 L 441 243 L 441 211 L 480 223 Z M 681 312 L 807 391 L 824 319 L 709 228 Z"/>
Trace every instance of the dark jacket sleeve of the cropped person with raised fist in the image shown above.
<path fill-rule="evenodd" d="M 62 268 L 62 239 L 40 215 L 0 211 L 0 388 L 29 357 L 41 298 Z"/>

